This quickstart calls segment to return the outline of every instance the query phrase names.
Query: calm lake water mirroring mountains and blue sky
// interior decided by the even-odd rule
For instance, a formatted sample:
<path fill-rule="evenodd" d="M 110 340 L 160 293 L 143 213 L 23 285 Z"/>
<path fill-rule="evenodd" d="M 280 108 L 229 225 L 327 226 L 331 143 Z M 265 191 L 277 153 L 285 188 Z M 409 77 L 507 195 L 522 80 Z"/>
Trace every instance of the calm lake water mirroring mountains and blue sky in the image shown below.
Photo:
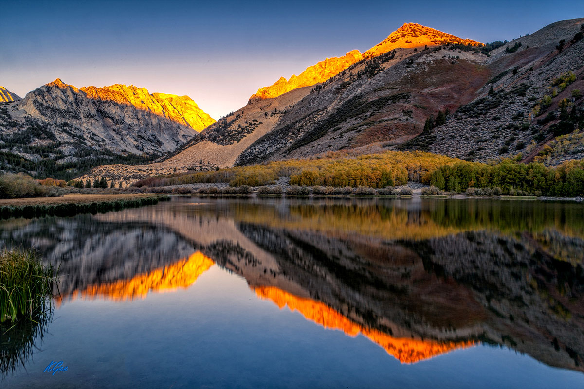
<path fill-rule="evenodd" d="M 61 293 L 2 388 L 584 388 L 579 204 L 175 197 L 0 243 Z"/>

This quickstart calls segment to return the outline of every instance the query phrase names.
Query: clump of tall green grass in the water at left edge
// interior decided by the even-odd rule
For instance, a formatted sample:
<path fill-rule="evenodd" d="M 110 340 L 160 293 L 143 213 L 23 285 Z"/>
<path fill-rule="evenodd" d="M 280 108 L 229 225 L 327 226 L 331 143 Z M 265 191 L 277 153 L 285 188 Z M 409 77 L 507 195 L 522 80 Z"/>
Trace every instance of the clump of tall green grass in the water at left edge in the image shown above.
<path fill-rule="evenodd" d="M 35 320 L 50 310 L 53 266 L 37 261 L 33 250 L 0 252 L 0 323 L 20 317 Z"/>

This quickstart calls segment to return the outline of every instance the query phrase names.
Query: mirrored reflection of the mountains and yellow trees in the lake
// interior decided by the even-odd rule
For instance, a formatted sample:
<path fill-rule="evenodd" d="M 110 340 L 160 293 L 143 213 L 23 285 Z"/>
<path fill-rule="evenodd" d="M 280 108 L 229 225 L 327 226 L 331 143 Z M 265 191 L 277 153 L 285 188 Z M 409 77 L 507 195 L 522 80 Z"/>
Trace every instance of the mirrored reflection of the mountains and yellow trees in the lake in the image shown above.
<path fill-rule="evenodd" d="M 262 299 L 362 334 L 402 363 L 478 343 L 584 371 L 578 204 L 174 199 L 8 220 L 4 244 L 61 264 L 63 300 L 186 288 L 214 263 Z"/>

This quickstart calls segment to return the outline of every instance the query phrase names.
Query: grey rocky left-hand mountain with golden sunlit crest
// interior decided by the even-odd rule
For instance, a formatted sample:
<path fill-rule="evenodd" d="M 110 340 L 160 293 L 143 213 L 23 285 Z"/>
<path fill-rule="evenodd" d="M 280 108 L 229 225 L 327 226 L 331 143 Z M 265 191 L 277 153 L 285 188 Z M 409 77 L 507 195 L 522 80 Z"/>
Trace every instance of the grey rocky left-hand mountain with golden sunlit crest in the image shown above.
<path fill-rule="evenodd" d="M 1 156 L 4 170 L 72 178 L 103 163 L 148 162 L 213 122 L 188 96 L 56 79 L 2 108 Z"/>

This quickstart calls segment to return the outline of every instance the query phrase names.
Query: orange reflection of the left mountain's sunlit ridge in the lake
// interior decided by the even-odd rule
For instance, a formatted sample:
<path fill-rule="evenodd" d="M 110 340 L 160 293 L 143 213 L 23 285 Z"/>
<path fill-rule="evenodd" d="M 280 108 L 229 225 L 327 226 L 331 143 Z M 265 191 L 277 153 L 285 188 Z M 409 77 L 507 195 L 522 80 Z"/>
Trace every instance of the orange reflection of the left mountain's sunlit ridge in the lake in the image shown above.
<path fill-rule="evenodd" d="M 183 258 L 172 265 L 154 269 L 151 272 L 135 275 L 131 279 L 89 285 L 81 291 L 69 295 L 80 295 L 85 299 L 103 298 L 114 301 L 143 299 L 150 292 L 171 292 L 178 288 L 189 288 L 197 278 L 206 272 L 215 262 L 197 251 L 188 258 Z M 65 296 L 67 297 L 67 296 Z M 64 297 L 57 299 L 60 305 Z"/>

